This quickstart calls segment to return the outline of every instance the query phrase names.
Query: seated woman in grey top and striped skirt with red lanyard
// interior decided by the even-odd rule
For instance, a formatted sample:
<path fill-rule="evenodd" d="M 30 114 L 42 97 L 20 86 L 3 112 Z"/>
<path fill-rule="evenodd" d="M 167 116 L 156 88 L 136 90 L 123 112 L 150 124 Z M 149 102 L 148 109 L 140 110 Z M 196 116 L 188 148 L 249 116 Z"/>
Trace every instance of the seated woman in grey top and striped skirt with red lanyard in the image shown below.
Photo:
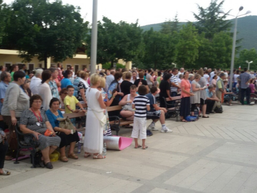
<path fill-rule="evenodd" d="M 20 129 L 23 133 L 31 133 L 39 142 L 39 148 L 42 152 L 42 161 L 48 169 L 52 169 L 49 155 L 60 145 L 61 138 L 53 134 L 45 136 L 48 129 L 54 133 L 45 111 L 40 110 L 43 99 L 40 95 L 33 95 L 29 102 L 30 108 L 25 110 L 20 119 Z M 25 137 L 25 142 L 31 141 L 30 137 Z"/>

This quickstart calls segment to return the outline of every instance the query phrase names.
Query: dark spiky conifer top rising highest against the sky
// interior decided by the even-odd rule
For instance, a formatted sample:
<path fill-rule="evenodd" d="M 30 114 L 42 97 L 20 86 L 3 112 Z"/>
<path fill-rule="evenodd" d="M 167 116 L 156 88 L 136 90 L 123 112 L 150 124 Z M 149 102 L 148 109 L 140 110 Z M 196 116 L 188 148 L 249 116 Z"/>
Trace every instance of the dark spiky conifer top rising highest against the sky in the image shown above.
<path fill-rule="evenodd" d="M 219 15 L 218 10 L 222 9 L 225 0 L 217 4 L 217 0 L 211 0 L 210 5 L 204 9 L 197 4 L 199 13 L 193 13 L 196 19 L 196 28 L 199 33 L 204 32 L 205 38 L 211 40 L 215 33 L 229 31 L 232 24 L 226 21 L 226 14 Z"/>

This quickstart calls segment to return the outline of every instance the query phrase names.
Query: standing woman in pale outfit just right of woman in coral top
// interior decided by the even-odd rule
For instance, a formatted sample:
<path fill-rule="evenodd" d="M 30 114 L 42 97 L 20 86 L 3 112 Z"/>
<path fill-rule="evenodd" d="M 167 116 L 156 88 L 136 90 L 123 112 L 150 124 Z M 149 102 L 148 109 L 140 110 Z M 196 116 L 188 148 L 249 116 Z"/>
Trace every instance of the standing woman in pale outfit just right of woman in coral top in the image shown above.
<path fill-rule="evenodd" d="M 194 96 L 190 97 L 190 103 L 191 103 L 191 115 L 194 116 L 194 109 L 196 107 L 196 104 L 200 104 L 200 91 L 203 91 L 204 89 L 201 88 L 200 84 L 198 83 L 201 76 L 196 74 L 194 76 L 194 80 L 191 83 L 191 89 Z"/>

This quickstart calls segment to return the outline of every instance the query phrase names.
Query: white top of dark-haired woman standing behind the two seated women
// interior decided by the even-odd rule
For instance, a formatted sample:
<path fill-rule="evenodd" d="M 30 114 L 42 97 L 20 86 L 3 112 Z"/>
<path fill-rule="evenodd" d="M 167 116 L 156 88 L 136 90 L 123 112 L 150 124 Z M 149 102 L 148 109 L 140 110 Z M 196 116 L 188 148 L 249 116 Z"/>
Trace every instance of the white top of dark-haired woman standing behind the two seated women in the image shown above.
<path fill-rule="evenodd" d="M 49 109 L 49 103 L 52 99 L 52 92 L 49 84 L 46 82 L 39 85 L 39 95 L 43 98 L 42 107 L 45 111 Z"/>

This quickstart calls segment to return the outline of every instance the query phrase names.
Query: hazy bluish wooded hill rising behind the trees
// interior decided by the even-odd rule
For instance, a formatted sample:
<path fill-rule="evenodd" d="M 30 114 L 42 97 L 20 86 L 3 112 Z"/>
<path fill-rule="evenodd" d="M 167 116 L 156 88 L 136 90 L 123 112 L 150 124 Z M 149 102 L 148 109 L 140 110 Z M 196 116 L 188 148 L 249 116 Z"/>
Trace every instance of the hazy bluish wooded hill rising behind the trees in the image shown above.
<path fill-rule="evenodd" d="M 234 19 L 231 20 L 234 23 Z M 146 31 L 150 30 L 151 27 L 155 31 L 159 31 L 161 29 L 161 24 L 151 24 L 141 26 L 141 28 Z M 186 22 L 180 22 L 180 25 L 187 24 Z M 234 27 L 232 27 L 231 32 L 234 31 Z M 240 17 L 237 19 L 237 36 L 236 39 L 243 39 L 242 42 L 237 44 L 237 46 L 242 46 L 241 49 L 257 49 L 257 15 L 249 15 L 245 17 Z"/>

